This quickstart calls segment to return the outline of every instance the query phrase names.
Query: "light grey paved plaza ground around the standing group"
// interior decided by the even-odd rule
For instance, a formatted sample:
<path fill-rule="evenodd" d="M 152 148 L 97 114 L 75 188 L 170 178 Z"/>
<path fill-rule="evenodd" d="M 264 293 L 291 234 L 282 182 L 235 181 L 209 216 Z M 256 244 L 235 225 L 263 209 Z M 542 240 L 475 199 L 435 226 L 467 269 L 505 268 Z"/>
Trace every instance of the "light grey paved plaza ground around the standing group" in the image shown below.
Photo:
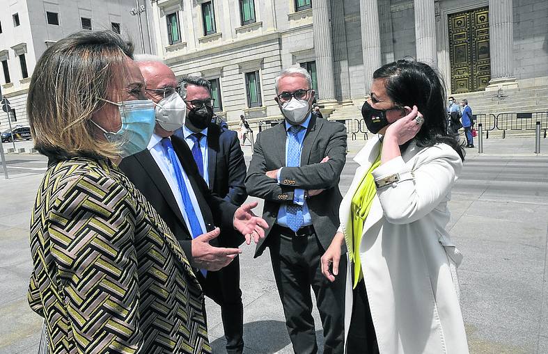
<path fill-rule="evenodd" d="M 464 254 L 459 276 L 470 350 L 548 353 L 548 139 L 542 139 L 545 153 L 539 155 L 533 136 L 484 141 L 485 154 L 467 149 L 448 225 Z M 343 193 L 362 145 L 349 140 Z M 244 153 L 249 163 L 251 147 Z M 41 322 L 26 301 L 29 217 L 46 159 L 6 157 L 10 179 L 0 170 L 0 354 L 36 353 Z M 268 252 L 253 259 L 254 247 L 242 249 L 244 353 L 292 353 Z M 225 353 L 219 307 L 208 300 L 207 308 L 214 352 Z M 315 321 L 320 339 L 317 312 Z"/>

